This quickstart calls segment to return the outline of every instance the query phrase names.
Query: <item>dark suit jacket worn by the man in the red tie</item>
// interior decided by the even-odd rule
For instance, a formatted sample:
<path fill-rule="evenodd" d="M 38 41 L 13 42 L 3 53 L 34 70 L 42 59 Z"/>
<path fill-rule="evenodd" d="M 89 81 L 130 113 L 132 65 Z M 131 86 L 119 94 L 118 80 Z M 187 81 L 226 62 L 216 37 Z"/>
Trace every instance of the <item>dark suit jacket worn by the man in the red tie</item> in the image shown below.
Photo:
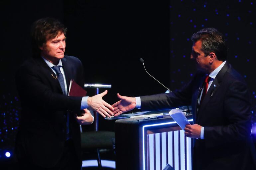
<path fill-rule="evenodd" d="M 256 166 L 251 138 L 251 104 L 247 85 L 226 63 L 201 105 L 197 99 L 205 74 L 198 72 L 180 91 L 141 96 L 143 110 L 192 105 L 194 123 L 204 126 L 204 139 L 194 140 L 193 170 L 249 170 Z"/>

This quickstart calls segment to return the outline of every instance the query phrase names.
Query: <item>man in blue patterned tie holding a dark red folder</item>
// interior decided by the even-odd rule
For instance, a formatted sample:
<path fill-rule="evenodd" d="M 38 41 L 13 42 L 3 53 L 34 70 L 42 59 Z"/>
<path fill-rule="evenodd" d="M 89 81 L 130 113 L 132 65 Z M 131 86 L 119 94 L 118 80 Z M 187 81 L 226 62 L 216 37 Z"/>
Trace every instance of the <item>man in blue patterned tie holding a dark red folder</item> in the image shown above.
<path fill-rule="evenodd" d="M 33 58 L 17 70 L 22 112 L 16 138 L 21 169 L 81 169 L 80 125 L 103 117 L 113 107 L 102 100 L 107 90 L 92 97 L 68 96 L 70 80 L 84 86 L 81 61 L 64 55 L 66 28 L 58 20 L 37 20 L 31 30 Z M 81 114 L 81 111 L 83 113 Z"/>

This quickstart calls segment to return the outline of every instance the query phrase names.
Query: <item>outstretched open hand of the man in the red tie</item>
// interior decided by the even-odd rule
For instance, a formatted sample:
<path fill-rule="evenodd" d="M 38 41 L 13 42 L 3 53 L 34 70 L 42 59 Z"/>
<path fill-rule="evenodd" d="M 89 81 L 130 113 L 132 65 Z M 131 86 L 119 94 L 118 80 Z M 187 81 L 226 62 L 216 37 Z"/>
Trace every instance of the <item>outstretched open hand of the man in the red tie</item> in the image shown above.
<path fill-rule="evenodd" d="M 112 104 L 112 107 L 114 107 L 114 116 L 128 112 L 136 107 L 135 97 L 121 96 L 119 93 L 117 93 L 117 97 L 121 100 Z"/>

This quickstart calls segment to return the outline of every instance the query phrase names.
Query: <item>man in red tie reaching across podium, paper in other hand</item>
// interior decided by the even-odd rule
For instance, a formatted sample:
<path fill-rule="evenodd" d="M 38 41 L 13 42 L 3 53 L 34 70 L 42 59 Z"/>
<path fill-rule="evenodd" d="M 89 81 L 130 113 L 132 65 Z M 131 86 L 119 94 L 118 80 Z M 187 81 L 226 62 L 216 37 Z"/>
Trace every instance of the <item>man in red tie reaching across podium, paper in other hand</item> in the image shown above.
<path fill-rule="evenodd" d="M 171 109 L 192 105 L 193 125 L 187 137 L 197 138 L 193 147 L 193 170 L 252 170 L 256 153 L 251 138 L 251 104 L 243 78 L 227 63 L 223 35 L 204 28 L 192 36 L 191 59 L 198 72 L 177 92 L 141 97 L 117 94 L 114 116 L 141 108 Z"/>

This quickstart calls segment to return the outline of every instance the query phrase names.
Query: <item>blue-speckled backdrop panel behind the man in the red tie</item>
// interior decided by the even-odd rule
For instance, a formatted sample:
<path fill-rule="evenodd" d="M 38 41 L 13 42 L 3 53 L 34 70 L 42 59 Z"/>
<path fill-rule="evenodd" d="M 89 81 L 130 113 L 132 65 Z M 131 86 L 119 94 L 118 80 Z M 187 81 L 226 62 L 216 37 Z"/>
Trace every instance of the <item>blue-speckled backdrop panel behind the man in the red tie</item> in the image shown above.
<path fill-rule="evenodd" d="M 190 62 L 192 34 L 202 28 L 217 28 L 225 35 L 227 61 L 244 77 L 252 101 L 252 134 L 256 136 L 256 3 L 253 1 L 170 1 L 171 89 L 177 90 L 195 73 Z M 237 103 L 239 104 L 239 103 Z"/>

